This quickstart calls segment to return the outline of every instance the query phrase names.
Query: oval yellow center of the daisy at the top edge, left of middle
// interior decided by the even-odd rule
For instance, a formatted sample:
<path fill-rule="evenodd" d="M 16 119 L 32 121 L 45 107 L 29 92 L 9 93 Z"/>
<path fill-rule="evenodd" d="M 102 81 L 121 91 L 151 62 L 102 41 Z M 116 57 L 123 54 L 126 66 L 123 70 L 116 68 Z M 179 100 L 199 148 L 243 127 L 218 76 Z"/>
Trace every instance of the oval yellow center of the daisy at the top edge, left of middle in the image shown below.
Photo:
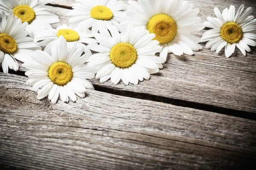
<path fill-rule="evenodd" d="M 111 20 L 113 12 L 105 6 L 95 6 L 90 11 L 90 16 L 96 20 Z"/>

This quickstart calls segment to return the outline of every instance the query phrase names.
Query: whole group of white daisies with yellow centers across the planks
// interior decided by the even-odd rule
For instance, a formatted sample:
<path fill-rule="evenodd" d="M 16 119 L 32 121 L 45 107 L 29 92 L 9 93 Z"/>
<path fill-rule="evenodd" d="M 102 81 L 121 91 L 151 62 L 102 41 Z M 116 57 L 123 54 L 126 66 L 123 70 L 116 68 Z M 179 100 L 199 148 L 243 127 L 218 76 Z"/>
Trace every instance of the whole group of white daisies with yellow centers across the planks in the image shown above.
<path fill-rule="evenodd" d="M 244 5 L 237 13 L 214 8 L 216 17 L 201 24 L 199 9 L 183 0 L 76 0 L 70 26 L 54 29 L 51 1 L 0 0 L 0 62 L 4 73 L 18 70 L 16 59 L 24 62 L 38 99 L 52 103 L 83 98 L 95 74 L 102 83 L 137 85 L 163 68 L 168 53 L 193 55 L 200 42 L 217 53 L 225 47 L 226 57 L 235 47 L 246 56 L 248 45 L 256 46 L 256 20 L 252 8 L 242 13 Z M 205 26 L 212 29 L 201 39 L 192 35 Z"/>

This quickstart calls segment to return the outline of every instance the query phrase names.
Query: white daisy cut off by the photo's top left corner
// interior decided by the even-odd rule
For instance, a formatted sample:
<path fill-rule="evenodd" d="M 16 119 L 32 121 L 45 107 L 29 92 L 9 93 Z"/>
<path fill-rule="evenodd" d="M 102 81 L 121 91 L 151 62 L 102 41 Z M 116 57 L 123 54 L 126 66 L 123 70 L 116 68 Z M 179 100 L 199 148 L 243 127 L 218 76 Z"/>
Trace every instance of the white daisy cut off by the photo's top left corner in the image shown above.
<path fill-rule="evenodd" d="M 44 28 L 52 28 L 51 23 L 59 22 L 58 16 L 49 12 L 51 9 L 45 6 L 50 2 L 52 0 L 0 0 L 0 9 L 6 15 L 10 15 L 9 10 L 12 9 L 22 23 L 29 23 L 26 31 L 29 32 L 30 37 L 33 37 L 36 32 Z"/>

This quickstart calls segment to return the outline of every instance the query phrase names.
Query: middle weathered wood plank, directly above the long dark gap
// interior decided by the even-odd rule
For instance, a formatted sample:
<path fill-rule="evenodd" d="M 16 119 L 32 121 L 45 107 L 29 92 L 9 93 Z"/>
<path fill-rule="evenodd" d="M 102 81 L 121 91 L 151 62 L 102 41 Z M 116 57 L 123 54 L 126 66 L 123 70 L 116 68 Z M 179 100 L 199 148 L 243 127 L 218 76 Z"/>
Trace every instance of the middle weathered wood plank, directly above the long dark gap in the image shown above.
<path fill-rule="evenodd" d="M 56 28 L 68 24 L 67 12 L 70 9 L 51 7 L 60 23 Z M 194 33 L 201 37 L 205 30 Z M 202 43 L 204 47 L 204 43 Z M 159 73 L 152 75 L 149 81 L 139 85 L 125 86 L 122 82 L 113 85 L 111 81 L 100 83 L 91 79 L 93 85 L 110 88 L 123 93 L 135 93 L 138 96 L 156 96 L 163 99 L 178 99 L 204 105 L 256 113 L 256 48 L 253 47 L 247 57 L 236 52 L 226 58 L 224 50 L 219 54 L 209 49 L 196 51 L 193 56 L 181 57 L 169 54 L 169 59 Z M 20 71 L 26 71 L 20 64 Z"/>

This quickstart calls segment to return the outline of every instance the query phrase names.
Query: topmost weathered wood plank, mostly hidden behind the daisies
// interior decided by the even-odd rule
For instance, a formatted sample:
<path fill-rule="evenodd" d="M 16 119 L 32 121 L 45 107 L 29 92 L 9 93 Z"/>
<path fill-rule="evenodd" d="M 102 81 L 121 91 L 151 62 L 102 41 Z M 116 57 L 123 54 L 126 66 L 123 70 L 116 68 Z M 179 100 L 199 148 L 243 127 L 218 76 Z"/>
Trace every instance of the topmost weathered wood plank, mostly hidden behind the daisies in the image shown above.
<path fill-rule="evenodd" d="M 72 7 L 73 3 L 76 0 L 54 0 L 51 4 Z M 128 0 L 124 0 L 127 2 Z M 207 21 L 207 17 L 216 17 L 214 14 L 214 8 L 218 7 L 219 10 L 224 10 L 225 8 L 229 8 L 230 5 L 236 7 L 236 11 L 238 10 L 241 4 L 245 5 L 245 8 L 252 7 L 253 14 L 256 14 L 256 3 L 254 0 L 189 0 L 189 3 L 194 5 L 194 8 L 199 8 L 200 12 L 198 14 L 199 17 L 202 18 L 202 21 Z"/>

